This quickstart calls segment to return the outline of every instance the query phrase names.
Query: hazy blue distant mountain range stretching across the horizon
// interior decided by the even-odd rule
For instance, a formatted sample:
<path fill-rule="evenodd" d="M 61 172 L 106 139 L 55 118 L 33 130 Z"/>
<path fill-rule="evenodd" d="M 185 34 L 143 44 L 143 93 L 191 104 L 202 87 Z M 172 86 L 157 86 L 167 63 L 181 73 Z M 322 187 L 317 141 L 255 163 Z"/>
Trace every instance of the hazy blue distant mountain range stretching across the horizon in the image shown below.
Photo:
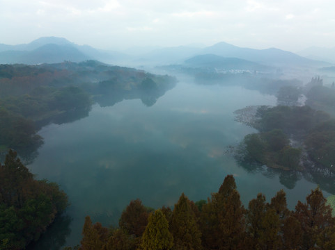
<path fill-rule="evenodd" d="M 88 45 L 77 45 L 65 38 L 39 38 L 29 44 L 7 45 L 0 44 L 0 63 L 61 63 L 64 60 L 79 62 L 83 60 L 100 60 L 109 64 L 123 65 L 169 65 L 169 64 L 194 64 L 196 61 L 201 64 L 226 63 L 240 65 L 240 68 L 249 69 L 266 66 L 304 66 L 304 67 L 327 67 L 331 66 L 319 60 L 311 60 L 298 56 L 289 51 L 281 49 L 250 49 L 236 47 L 226 42 L 219 42 L 213 46 L 198 47 L 170 47 L 170 48 L 150 48 L 146 47 L 143 53 L 128 49 L 126 53 L 116 51 L 103 51 Z M 130 54 L 127 54 L 130 53 Z M 203 56 L 207 55 L 207 56 Z M 211 56 L 209 56 L 211 55 Z M 202 56 L 194 58 L 194 56 Z M 218 58 L 220 56 L 221 58 Z M 193 58 L 193 60 L 189 60 Z M 229 58 L 229 59 L 224 59 Z M 235 58 L 235 59 L 232 59 Z M 237 60 L 238 59 L 238 60 Z M 212 61 L 211 61 L 212 60 Z"/>

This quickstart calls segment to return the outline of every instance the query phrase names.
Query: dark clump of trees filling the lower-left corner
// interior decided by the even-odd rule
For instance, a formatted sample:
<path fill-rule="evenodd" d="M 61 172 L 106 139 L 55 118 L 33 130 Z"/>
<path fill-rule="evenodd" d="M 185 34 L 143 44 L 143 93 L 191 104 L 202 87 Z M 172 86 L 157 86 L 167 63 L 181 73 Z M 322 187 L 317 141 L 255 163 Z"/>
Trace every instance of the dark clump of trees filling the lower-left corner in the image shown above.
<path fill-rule="evenodd" d="M 56 183 L 34 180 L 15 151 L 0 164 L 0 180 L 0 249 L 24 249 L 65 210 L 68 197 Z"/>

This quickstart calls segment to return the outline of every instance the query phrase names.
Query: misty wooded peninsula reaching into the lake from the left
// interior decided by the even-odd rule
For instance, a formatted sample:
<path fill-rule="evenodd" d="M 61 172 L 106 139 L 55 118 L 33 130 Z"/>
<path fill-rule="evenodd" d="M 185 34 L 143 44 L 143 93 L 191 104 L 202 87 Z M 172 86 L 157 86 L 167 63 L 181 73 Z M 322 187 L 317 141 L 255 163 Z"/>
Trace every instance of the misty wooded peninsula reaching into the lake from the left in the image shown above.
<path fill-rule="evenodd" d="M 176 78 L 96 61 L 54 65 L 0 65 L 0 153 L 20 156 L 42 144 L 37 131 L 86 117 L 94 102 L 112 106 L 139 98 L 151 106 Z"/>

